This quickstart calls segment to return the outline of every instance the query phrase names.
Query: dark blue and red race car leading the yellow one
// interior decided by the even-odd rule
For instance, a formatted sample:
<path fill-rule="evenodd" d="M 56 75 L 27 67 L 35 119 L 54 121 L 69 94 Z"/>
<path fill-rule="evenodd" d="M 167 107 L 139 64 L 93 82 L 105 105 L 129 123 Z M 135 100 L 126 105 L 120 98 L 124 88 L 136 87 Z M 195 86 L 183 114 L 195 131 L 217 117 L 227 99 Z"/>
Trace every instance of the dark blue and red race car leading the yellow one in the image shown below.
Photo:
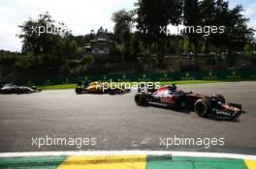
<path fill-rule="evenodd" d="M 235 120 L 243 113 L 241 105 L 236 103 L 226 103 L 223 96 L 217 94 L 211 97 L 185 93 L 176 89 L 176 85 L 159 87 L 157 90 L 138 89 L 135 101 L 138 105 L 147 103 L 167 105 L 175 109 L 185 109 L 195 111 L 200 117 L 214 115 L 224 119 Z"/>

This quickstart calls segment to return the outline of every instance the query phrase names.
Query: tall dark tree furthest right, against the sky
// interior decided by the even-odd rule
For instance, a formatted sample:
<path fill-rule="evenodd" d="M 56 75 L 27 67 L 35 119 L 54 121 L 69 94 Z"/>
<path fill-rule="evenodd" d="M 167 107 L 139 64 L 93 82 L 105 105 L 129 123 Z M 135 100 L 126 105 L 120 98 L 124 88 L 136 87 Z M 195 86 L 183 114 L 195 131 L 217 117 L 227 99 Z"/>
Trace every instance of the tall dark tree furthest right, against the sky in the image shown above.
<path fill-rule="evenodd" d="M 235 56 L 234 52 L 243 50 L 244 45 L 253 40 L 253 30 L 247 26 L 248 19 L 241 12 L 240 5 L 230 10 L 227 1 L 216 1 L 212 23 L 225 26 L 225 31 L 223 34 L 211 34 L 208 40 L 216 47 L 217 58 L 221 58 L 222 51 L 227 50 L 227 59 L 233 60 L 230 57 Z"/>

